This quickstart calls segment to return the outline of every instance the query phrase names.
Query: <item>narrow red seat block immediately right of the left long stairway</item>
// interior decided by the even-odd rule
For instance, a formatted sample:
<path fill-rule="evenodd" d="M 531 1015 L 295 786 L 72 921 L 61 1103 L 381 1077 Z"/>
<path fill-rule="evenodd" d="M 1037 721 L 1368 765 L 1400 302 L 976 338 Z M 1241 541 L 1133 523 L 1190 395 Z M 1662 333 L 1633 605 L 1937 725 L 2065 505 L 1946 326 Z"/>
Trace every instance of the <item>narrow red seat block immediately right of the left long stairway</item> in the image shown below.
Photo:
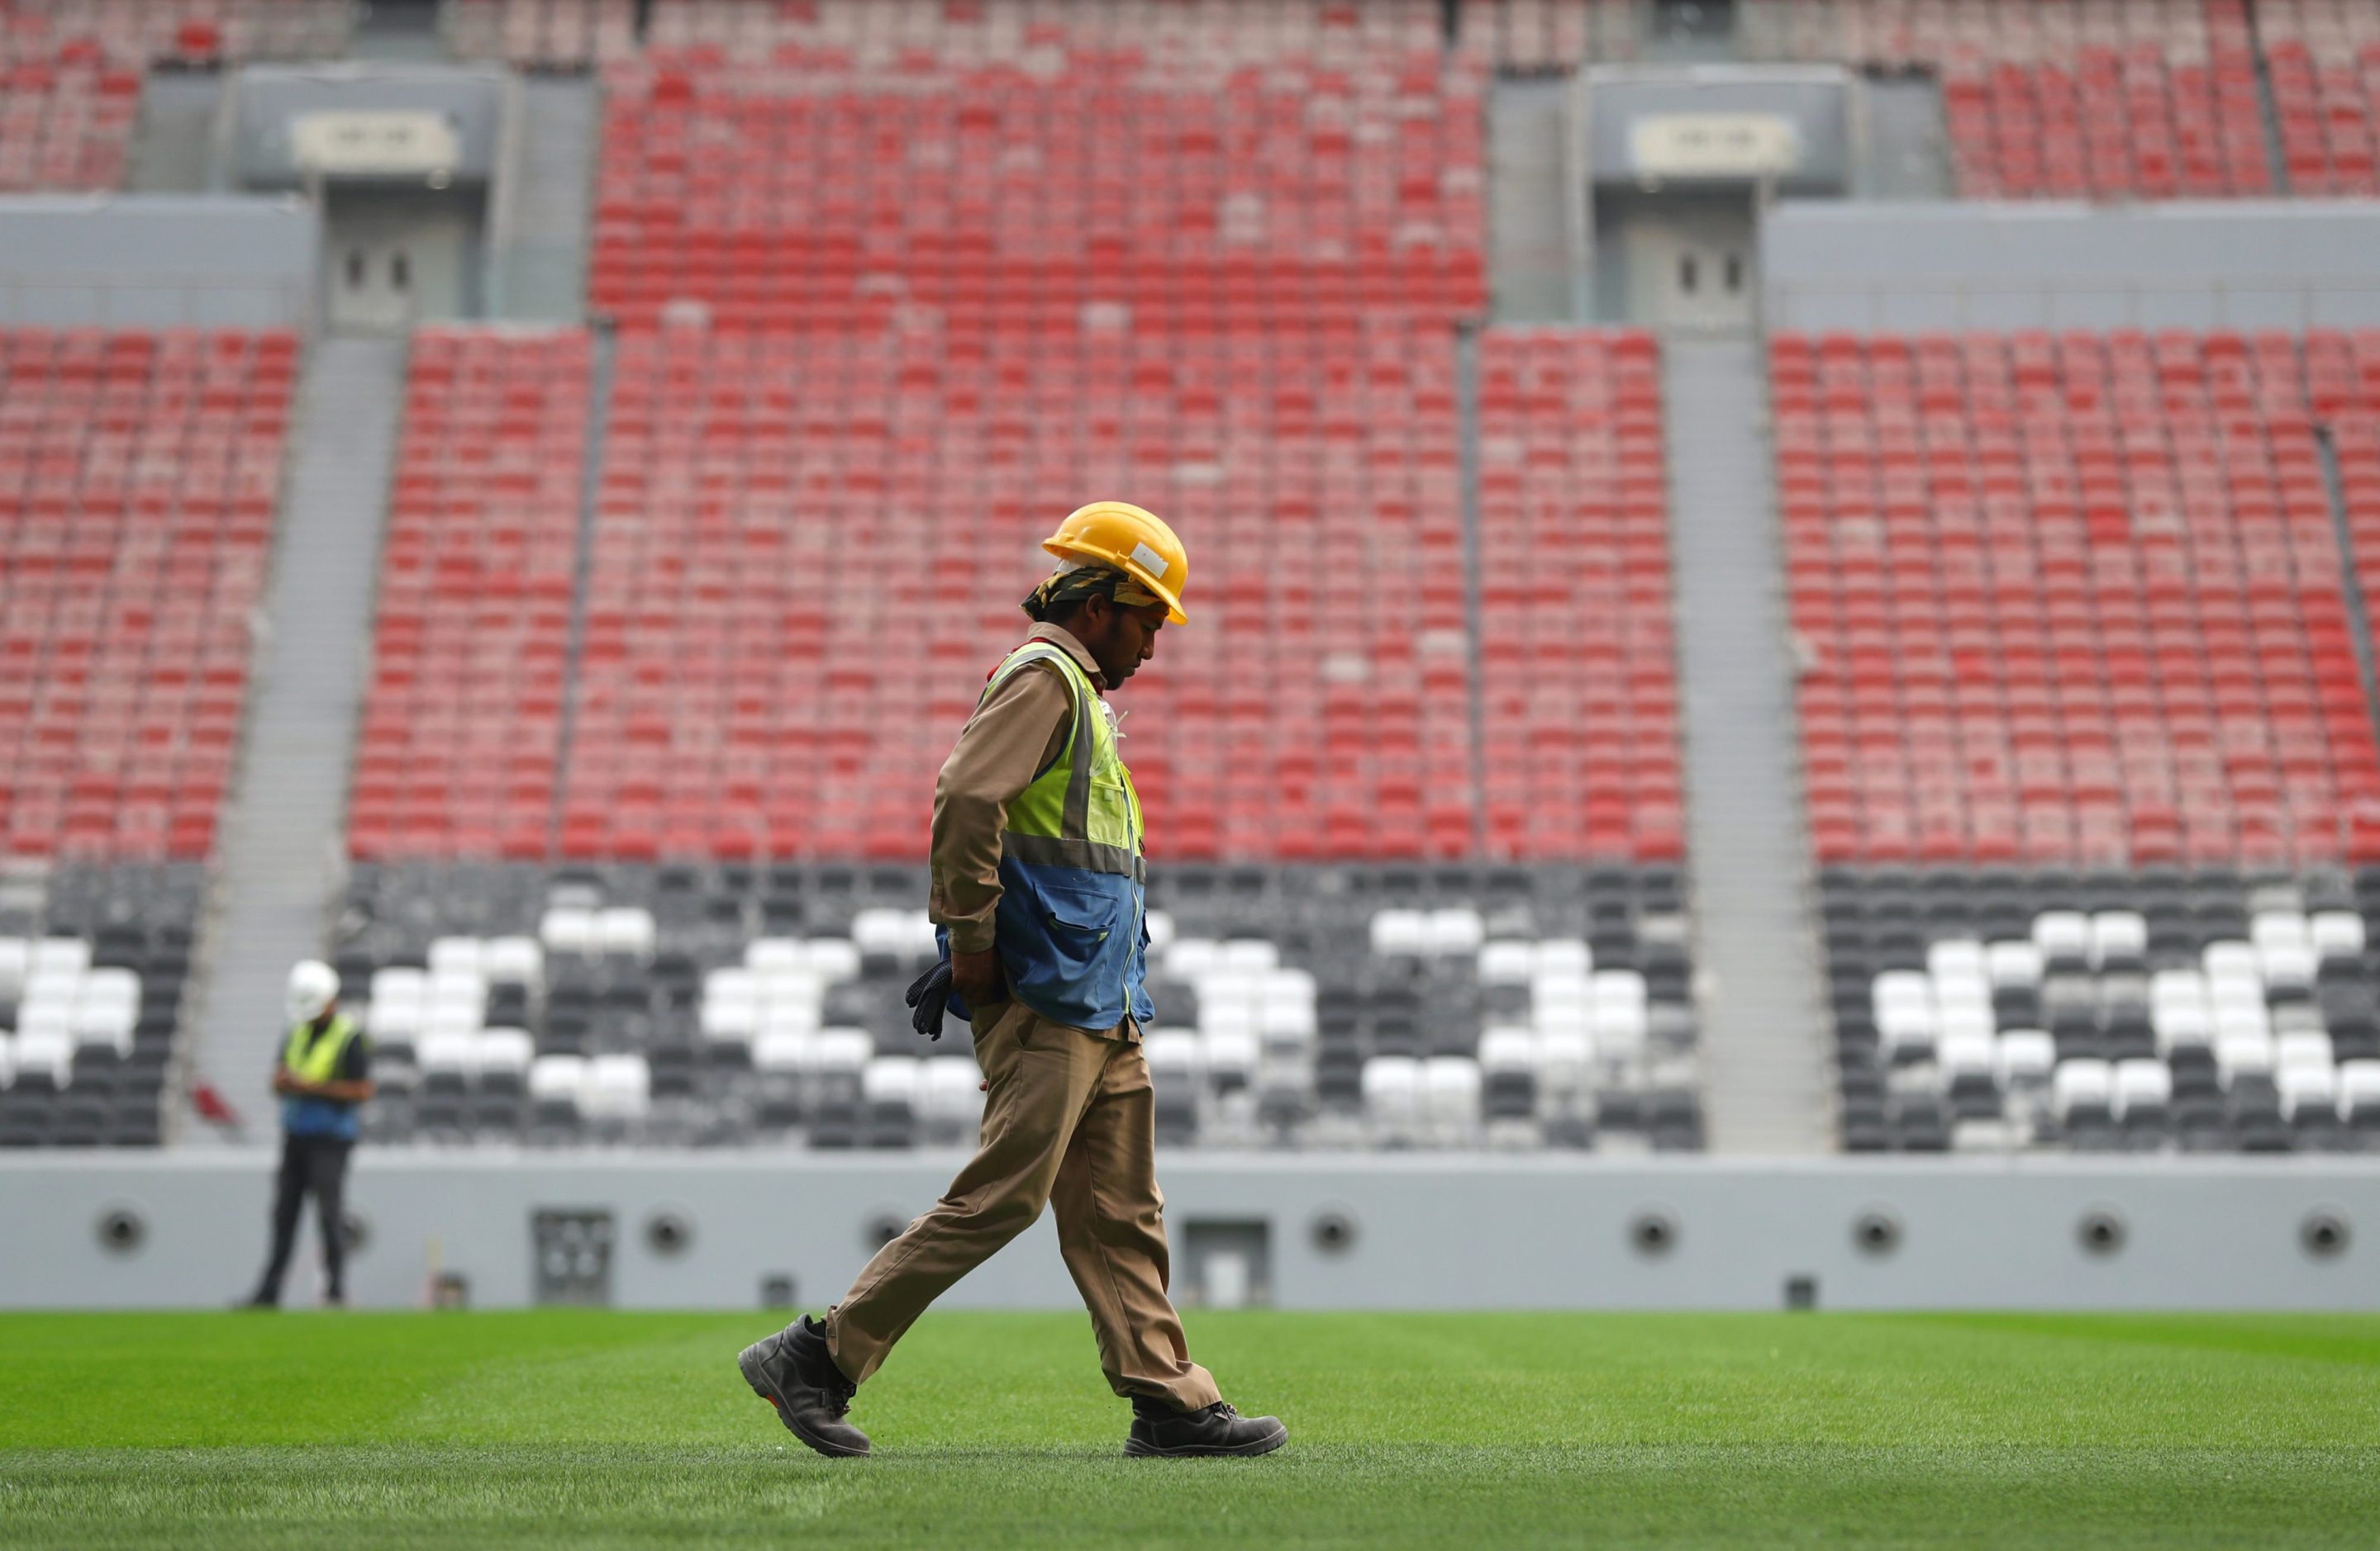
<path fill-rule="evenodd" d="M 588 395 L 583 331 L 414 335 L 352 854 L 547 854 Z"/>

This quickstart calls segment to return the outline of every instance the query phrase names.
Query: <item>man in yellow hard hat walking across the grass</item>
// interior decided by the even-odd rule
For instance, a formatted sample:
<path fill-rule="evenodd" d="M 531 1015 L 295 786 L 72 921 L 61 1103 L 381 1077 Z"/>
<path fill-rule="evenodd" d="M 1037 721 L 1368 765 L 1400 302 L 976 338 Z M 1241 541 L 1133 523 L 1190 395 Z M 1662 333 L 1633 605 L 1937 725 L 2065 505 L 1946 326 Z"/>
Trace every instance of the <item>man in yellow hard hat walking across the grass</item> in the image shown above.
<path fill-rule="evenodd" d="M 1073 511 L 1042 547 L 1064 564 L 1023 602 L 1033 630 L 992 671 L 933 792 L 931 913 L 947 975 L 919 1028 L 940 1035 L 947 994 L 976 1037 L 990 1094 L 978 1151 L 823 1323 L 804 1315 L 738 1361 L 819 1453 L 869 1451 L 845 1420 L 857 1387 L 1045 1204 L 1100 1368 L 1133 1401 L 1126 1453 L 1266 1453 L 1288 1439 L 1278 1420 L 1223 1404 L 1166 1299 L 1140 1054 L 1154 1018 L 1140 797 L 1107 692 L 1157 654 L 1169 621 L 1185 623 L 1188 557 L 1166 523 L 1123 502 Z"/>

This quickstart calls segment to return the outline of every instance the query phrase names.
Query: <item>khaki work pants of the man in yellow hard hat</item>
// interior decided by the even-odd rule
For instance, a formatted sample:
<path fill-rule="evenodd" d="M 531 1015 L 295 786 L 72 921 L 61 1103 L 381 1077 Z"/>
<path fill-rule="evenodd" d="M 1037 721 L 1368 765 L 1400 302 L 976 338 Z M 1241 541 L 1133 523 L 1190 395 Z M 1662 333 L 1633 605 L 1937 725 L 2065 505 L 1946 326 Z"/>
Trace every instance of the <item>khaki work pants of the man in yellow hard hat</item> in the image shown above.
<path fill-rule="evenodd" d="M 1109 1387 L 1185 1411 L 1216 1404 L 1214 1375 L 1190 1361 L 1166 1299 L 1157 1104 L 1140 1044 L 1050 1023 L 1014 999 L 971 1028 L 990 1082 L 976 1156 L 826 1311 L 835 1365 L 866 1382 L 928 1304 L 1052 1204 Z"/>

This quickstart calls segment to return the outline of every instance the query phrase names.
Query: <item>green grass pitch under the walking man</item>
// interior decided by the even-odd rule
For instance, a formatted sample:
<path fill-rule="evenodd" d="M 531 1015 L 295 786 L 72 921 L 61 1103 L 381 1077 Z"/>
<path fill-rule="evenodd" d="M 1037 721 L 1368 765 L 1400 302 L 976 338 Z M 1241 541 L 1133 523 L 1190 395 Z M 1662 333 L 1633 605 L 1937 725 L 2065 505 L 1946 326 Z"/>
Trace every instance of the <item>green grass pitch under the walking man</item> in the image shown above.
<path fill-rule="evenodd" d="M 1290 1446 L 1119 1458 L 933 1313 L 821 1461 L 766 1315 L 0 1315 L 0 1546 L 2375 1546 L 2380 1318 L 1192 1313 Z"/>

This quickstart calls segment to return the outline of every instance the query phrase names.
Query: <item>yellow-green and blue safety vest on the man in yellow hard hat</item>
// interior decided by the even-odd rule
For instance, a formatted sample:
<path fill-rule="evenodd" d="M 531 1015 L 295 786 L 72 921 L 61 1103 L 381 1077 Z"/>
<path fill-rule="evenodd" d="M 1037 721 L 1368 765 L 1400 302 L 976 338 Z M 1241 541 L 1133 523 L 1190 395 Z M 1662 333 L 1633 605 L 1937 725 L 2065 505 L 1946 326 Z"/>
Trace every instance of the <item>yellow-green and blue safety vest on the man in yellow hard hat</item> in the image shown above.
<path fill-rule="evenodd" d="M 1145 990 L 1140 795 L 1116 754 L 1116 728 L 1100 692 L 1071 652 L 1031 640 L 992 671 L 983 699 L 1038 661 L 1066 680 L 1073 737 L 1057 764 L 1016 795 L 1000 830 L 1000 909 L 992 916 L 1000 966 L 1009 994 L 1052 1023 L 1104 1032 L 1130 1013 L 1147 1025 L 1157 1009 Z M 942 952 L 950 952 L 950 933 L 942 933 Z"/>

